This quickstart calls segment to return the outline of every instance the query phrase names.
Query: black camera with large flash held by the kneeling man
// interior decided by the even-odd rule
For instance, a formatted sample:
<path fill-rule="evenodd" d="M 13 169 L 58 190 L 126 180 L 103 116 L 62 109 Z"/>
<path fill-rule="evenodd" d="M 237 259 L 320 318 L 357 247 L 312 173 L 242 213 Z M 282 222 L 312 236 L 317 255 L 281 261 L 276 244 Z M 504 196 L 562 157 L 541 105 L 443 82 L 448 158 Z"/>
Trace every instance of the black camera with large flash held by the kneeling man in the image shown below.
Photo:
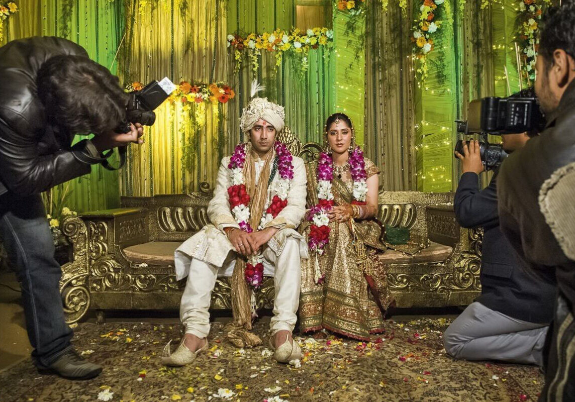
<path fill-rule="evenodd" d="M 469 103 L 467 110 L 467 121 L 455 121 L 457 132 L 463 137 L 455 144 L 455 151 L 463 155 L 463 141 L 466 141 L 469 146 L 466 136 L 479 134 L 480 155 L 485 170 L 496 169 L 508 155 L 501 145 L 489 143 L 488 134 L 540 132 L 545 128 L 545 117 L 539 109 L 535 91 L 532 88 L 522 90 L 508 98 L 475 99 Z"/>

